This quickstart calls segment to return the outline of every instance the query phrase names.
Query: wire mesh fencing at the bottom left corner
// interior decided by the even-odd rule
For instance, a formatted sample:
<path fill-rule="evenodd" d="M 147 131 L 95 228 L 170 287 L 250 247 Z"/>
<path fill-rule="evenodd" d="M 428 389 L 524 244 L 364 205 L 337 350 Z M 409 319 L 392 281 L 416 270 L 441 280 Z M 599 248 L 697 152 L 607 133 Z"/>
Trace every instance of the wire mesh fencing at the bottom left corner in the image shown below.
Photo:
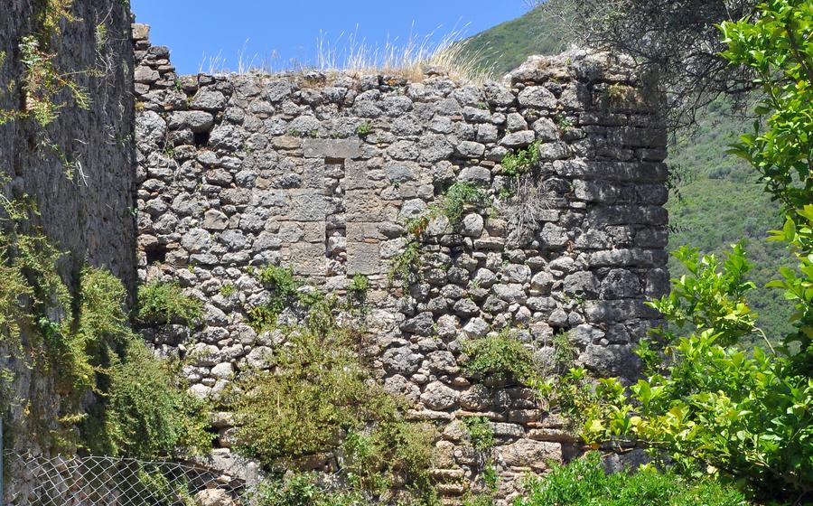
<path fill-rule="evenodd" d="M 5 454 L 9 506 L 248 506 L 246 483 L 197 464 Z"/>

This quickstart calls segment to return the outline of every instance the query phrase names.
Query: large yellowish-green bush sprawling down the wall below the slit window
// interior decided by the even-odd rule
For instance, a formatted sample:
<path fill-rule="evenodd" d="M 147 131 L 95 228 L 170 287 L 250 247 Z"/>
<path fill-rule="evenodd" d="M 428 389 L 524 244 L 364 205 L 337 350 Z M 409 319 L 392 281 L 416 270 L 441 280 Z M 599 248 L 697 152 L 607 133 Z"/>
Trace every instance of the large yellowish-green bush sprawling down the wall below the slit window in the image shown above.
<path fill-rule="evenodd" d="M 335 297 L 313 305 L 285 327 L 276 369 L 245 374 L 229 391 L 239 451 L 273 467 L 341 447 L 353 490 L 384 496 L 397 475 L 415 485 L 414 496 L 432 496 L 432 431 L 405 420 L 406 402 L 378 385 L 360 355 L 362 335 L 335 309 Z"/>

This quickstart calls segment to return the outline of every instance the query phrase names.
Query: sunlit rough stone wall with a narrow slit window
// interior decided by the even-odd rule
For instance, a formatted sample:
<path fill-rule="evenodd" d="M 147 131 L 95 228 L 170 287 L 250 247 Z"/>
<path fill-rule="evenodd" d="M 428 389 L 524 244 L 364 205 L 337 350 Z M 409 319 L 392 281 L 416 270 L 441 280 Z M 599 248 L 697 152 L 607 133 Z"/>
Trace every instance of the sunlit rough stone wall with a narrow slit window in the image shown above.
<path fill-rule="evenodd" d="M 148 27 L 134 31 L 139 276 L 178 281 L 206 308 L 200 331 L 147 335 L 196 361 L 186 370 L 195 393 L 217 397 L 272 352 L 273 333 L 247 323 L 268 296 L 249 266 L 292 267 L 339 293 L 360 274 L 382 381 L 443 433 L 444 494 L 464 492 L 477 464 L 462 417 L 491 419 L 506 493 L 514 477 L 576 451 L 528 389 L 464 374 L 461 342 L 513 325 L 544 357 L 567 332 L 576 363 L 637 374 L 631 347 L 657 318 L 643 301 L 668 287 L 666 134 L 646 83 L 584 52 L 532 57 L 482 85 L 438 69 L 418 80 L 178 76 Z M 537 141 L 541 162 L 525 181 L 544 204 L 530 230 L 511 233 L 519 208 L 500 198 L 500 162 Z M 423 279 L 391 285 L 406 221 L 454 182 L 480 185 L 492 205 L 455 227 L 431 220 Z M 230 431 L 220 425 L 220 454 Z M 332 455 L 316 463 L 332 465 Z"/>

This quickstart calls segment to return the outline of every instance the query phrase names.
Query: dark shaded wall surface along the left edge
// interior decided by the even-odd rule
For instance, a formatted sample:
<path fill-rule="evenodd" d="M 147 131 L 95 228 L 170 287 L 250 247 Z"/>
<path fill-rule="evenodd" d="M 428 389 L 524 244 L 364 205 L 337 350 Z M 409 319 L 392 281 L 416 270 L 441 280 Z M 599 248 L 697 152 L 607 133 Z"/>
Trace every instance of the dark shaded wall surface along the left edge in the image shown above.
<path fill-rule="evenodd" d="M 5 59 L 0 65 L 0 109 L 20 110 L 25 103 L 19 86 L 24 70 L 19 46 L 24 36 L 41 30 L 34 22 L 35 9 L 41 4 L 3 2 L 0 52 Z M 51 52 L 56 54 L 56 68 L 71 72 L 87 90 L 89 108 L 76 107 L 62 93 L 55 101 L 64 107 L 51 126 L 43 129 L 31 119 L 0 125 L 0 179 L 9 180 L 0 182 L 0 192 L 10 198 L 33 197 L 41 214 L 39 225 L 66 252 L 61 272 L 70 286 L 75 286 L 79 269 L 88 263 L 111 269 L 133 289 L 135 113 L 130 14 L 120 2 L 108 0 L 76 0 L 71 12 L 78 20 L 61 23 L 62 33 L 54 38 Z M 104 40 L 97 37 L 99 26 L 105 27 Z M 66 163 L 74 168 L 72 178 L 66 176 Z M 26 339 L 23 334 L 23 342 Z M 48 374 L 9 360 L 4 350 L 0 350 L 0 367 L 14 374 L 11 385 L 3 387 L 10 388 L 16 398 L 13 408 L 2 413 L 6 448 L 47 452 L 35 444 L 45 435 L 34 434 L 27 422 L 38 418 L 35 426 L 41 430 L 55 424 L 59 398 Z M 14 462 L 7 464 L 14 466 Z M 7 500 L 27 503 L 24 494 L 17 492 L 28 475 L 14 470 L 6 475 L 17 477 L 6 482 Z"/>

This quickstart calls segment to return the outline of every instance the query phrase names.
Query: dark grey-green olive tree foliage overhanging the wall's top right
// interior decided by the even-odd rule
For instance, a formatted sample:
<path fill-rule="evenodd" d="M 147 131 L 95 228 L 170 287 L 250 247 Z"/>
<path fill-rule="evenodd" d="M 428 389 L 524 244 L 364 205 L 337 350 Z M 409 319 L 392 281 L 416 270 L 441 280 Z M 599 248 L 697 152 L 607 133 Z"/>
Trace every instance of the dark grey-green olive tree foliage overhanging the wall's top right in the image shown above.
<path fill-rule="evenodd" d="M 532 0 L 566 42 L 625 54 L 668 89 L 667 125 L 695 124 L 698 111 L 728 96 L 744 106 L 753 72 L 731 66 L 716 25 L 755 13 L 758 0 Z M 744 107 L 736 108 L 743 112 Z"/>

